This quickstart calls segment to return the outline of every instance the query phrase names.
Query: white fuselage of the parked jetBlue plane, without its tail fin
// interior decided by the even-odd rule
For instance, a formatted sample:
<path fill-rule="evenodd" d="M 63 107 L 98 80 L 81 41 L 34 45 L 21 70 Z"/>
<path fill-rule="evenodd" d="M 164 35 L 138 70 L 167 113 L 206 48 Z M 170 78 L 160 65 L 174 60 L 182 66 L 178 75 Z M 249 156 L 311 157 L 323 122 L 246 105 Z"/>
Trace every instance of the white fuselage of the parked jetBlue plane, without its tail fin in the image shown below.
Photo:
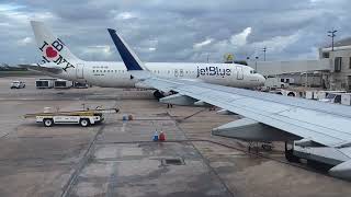
<path fill-rule="evenodd" d="M 264 78 L 250 67 L 235 63 L 148 62 L 145 66 L 156 76 L 170 79 L 186 79 L 236 88 L 254 88 L 264 82 Z M 104 88 L 135 88 L 137 82 L 123 62 L 113 61 L 77 62 L 75 68 L 68 68 L 59 74 L 48 74 Z"/>

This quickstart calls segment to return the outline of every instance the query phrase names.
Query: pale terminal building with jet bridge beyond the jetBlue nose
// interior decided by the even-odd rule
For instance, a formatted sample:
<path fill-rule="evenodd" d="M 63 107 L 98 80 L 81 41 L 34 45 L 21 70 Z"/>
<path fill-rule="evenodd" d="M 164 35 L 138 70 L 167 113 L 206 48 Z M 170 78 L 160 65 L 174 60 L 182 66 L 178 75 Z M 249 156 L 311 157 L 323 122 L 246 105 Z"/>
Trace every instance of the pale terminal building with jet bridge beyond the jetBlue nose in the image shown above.
<path fill-rule="evenodd" d="M 351 91 L 351 37 L 319 48 L 319 59 L 254 61 L 248 65 L 265 77 L 282 82 L 326 90 Z"/>

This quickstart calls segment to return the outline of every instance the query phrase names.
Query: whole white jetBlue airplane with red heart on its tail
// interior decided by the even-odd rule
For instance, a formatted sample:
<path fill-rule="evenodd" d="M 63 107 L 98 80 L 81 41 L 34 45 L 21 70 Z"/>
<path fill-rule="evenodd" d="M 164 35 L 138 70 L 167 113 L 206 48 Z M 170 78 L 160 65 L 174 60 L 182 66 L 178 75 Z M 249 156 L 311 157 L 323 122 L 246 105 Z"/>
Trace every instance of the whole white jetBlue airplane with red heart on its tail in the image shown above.
<path fill-rule="evenodd" d="M 105 88 L 149 88 L 137 83 L 123 62 L 84 61 L 76 57 L 65 43 L 42 22 L 32 21 L 42 62 L 27 66 L 48 76 L 70 81 L 88 82 Z M 25 67 L 24 65 L 22 65 Z M 236 88 L 263 85 L 265 79 L 252 68 L 236 63 L 149 62 L 148 70 L 159 77 L 203 81 Z M 156 91 L 156 97 L 162 93 Z"/>

